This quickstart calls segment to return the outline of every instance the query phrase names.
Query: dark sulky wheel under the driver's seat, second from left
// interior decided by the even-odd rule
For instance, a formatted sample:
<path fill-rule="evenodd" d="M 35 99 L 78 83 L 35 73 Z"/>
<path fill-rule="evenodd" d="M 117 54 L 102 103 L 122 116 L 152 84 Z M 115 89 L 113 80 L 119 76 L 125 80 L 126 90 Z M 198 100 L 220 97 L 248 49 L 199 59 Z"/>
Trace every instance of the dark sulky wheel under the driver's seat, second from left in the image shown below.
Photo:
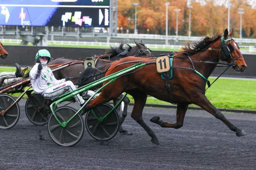
<path fill-rule="evenodd" d="M 50 110 L 50 101 L 40 94 L 32 94 L 26 101 L 26 116 L 35 125 L 47 124 Z"/>

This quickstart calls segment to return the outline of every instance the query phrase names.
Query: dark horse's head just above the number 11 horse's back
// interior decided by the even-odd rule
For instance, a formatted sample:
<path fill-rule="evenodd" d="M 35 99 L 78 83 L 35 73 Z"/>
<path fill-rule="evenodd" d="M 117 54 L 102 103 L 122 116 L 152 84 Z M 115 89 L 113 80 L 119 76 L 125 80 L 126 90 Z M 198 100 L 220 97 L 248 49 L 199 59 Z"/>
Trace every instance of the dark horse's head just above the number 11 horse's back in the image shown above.
<path fill-rule="evenodd" d="M 134 40 L 136 46 L 132 47 L 130 49 L 130 55 L 139 55 L 139 56 L 151 56 L 151 49 L 149 49 L 148 47 L 145 46 L 145 43 L 143 42 L 143 40 L 140 40 L 140 43 L 137 43 Z"/>

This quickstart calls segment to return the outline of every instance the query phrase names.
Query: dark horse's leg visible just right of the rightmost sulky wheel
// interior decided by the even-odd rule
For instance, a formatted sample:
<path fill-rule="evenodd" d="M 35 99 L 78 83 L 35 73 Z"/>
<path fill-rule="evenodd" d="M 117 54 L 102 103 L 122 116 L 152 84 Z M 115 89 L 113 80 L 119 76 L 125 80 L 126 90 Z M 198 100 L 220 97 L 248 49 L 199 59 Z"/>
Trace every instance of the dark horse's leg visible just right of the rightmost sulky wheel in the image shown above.
<path fill-rule="evenodd" d="M 120 95 L 119 98 L 120 97 L 122 97 L 122 95 Z M 118 103 L 118 101 L 119 101 L 118 99 L 113 100 L 114 105 L 116 105 Z M 128 103 L 127 103 L 127 101 L 128 101 Z M 124 130 L 122 127 L 122 123 L 124 122 L 125 117 L 127 116 L 127 108 L 128 108 L 128 104 L 129 104 L 128 98 L 125 97 L 123 102 L 125 103 L 125 107 L 124 107 L 122 113 L 121 113 L 121 105 L 119 105 L 119 107 L 117 109 L 117 111 L 119 113 L 120 122 L 121 122 L 118 131 L 119 131 L 119 133 L 123 133 L 124 135 L 132 135 L 132 133 L 130 131 Z"/>

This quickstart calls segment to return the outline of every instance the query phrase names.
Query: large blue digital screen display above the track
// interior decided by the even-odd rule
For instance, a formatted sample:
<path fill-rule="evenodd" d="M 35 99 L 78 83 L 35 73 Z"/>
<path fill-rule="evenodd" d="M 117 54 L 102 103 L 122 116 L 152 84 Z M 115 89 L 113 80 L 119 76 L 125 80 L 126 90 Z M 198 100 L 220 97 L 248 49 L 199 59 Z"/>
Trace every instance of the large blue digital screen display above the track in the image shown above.
<path fill-rule="evenodd" d="M 0 25 L 109 27 L 109 0 L 0 0 Z"/>

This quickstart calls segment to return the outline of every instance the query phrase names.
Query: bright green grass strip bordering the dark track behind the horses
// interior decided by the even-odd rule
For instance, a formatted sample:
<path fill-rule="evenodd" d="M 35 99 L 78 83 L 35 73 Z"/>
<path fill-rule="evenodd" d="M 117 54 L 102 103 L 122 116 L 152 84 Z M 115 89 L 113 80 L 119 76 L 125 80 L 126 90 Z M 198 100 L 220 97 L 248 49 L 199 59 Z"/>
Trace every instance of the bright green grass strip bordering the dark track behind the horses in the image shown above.
<path fill-rule="evenodd" d="M 14 68 L 1 68 L 1 71 L 15 71 Z M 209 78 L 213 81 L 214 78 Z M 163 87 L 165 88 L 165 87 Z M 21 93 L 14 94 L 19 96 Z M 206 92 L 215 107 L 228 109 L 256 110 L 256 80 L 220 78 Z M 134 102 L 131 96 L 128 96 Z M 156 98 L 148 98 L 148 104 L 169 104 Z M 195 106 L 195 105 L 191 105 Z"/>

